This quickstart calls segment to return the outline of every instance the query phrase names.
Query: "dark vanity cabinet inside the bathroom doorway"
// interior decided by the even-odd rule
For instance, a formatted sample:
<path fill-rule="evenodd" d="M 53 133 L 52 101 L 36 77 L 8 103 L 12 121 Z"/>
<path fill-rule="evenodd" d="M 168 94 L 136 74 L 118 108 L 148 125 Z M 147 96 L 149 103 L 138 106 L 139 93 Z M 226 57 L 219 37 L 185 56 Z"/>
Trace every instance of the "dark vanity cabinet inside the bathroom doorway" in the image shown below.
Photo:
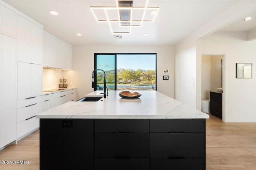
<path fill-rule="evenodd" d="M 222 93 L 210 91 L 210 113 L 222 119 Z"/>

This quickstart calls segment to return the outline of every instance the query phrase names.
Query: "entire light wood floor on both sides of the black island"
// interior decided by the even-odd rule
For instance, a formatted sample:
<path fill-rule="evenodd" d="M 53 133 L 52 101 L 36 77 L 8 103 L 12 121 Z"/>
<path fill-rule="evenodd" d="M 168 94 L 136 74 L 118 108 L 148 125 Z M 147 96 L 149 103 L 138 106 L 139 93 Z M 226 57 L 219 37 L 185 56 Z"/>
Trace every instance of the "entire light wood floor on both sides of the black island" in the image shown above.
<path fill-rule="evenodd" d="M 1 170 L 38 170 L 39 130 L 0 151 L 0 160 L 29 160 L 26 165 L 0 164 Z M 210 115 L 206 119 L 206 169 L 256 170 L 256 123 L 224 123 Z"/>

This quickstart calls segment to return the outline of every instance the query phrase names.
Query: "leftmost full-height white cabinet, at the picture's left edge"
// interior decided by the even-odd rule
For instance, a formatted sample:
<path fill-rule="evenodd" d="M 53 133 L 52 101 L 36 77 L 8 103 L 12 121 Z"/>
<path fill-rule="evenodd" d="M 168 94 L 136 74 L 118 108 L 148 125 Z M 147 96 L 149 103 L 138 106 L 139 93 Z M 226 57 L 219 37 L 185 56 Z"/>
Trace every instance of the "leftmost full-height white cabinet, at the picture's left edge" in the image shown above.
<path fill-rule="evenodd" d="M 16 140 L 16 13 L 0 4 L 0 148 Z"/>

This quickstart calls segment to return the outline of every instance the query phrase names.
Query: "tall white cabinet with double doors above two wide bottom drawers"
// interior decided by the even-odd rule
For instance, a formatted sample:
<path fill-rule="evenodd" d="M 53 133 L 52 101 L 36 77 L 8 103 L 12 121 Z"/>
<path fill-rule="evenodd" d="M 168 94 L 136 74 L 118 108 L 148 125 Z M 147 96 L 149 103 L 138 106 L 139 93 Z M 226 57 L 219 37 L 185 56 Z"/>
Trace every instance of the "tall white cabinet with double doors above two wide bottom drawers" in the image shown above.
<path fill-rule="evenodd" d="M 39 127 L 42 112 L 43 30 L 17 14 L 17 139 Z"/>

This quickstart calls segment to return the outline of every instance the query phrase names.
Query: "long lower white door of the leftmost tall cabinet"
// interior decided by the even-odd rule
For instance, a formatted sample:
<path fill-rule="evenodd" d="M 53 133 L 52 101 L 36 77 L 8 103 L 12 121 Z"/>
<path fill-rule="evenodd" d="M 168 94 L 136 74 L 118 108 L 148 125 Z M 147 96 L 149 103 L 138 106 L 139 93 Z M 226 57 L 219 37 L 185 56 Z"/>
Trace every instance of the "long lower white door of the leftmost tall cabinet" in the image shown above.
<path fill-rule="evenodd" d="M 0 148 L 14 140 L 16 140 L 16 39 L 0 34 Z"/>

